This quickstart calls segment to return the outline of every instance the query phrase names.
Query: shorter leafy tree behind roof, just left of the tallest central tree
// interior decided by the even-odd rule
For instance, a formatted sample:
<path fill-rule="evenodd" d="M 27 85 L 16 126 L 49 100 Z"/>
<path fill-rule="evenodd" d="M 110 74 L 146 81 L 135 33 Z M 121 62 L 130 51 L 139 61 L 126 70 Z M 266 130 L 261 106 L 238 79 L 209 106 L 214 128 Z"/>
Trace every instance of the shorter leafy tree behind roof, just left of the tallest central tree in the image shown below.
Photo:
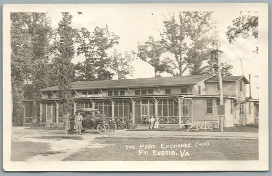
<path fill-rule="evenodd" d="M 138 45 L 138 52 L 134 53 L 142 61 L 149 63 L 155 71 L 155 77 L 160 77 L 163 72 L 174 74 L 175 63 L 170 60 L 170 58 L 163 58 L 161 60 L 161 55 L 166 51 L 162 41 L 155 41 L 155 39 L 150 36 L 149 40 L 143 45 Z"/>

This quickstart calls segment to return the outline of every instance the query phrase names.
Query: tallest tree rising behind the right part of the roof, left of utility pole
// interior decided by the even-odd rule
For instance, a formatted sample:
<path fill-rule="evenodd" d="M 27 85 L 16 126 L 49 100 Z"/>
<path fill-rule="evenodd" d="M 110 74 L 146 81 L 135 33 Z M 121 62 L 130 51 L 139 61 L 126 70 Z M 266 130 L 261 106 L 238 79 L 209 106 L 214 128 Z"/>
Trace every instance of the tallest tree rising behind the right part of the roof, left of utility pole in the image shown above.
<path fill-rule="evenodd" d="M 215 40 L 215 22 L 212 12 L 180 12 L 179 22 L 175 15 L 165 20 L 162 41 L 167 51 L 175 55 L 178 72 L 182 75 L 187 69 L 191 75 L 202 74 L 205 61 L 210 58 L 210 50 Z"/>

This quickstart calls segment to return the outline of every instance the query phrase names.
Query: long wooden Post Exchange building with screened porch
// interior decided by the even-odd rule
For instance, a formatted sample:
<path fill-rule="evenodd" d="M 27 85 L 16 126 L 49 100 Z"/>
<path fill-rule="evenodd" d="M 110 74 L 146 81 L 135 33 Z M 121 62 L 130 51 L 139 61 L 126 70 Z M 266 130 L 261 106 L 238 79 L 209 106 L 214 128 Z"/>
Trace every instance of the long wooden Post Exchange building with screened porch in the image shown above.
<path fill-rule="evenodd" d="M 247 119 L 244 76 L 223 77 L 225 126 L 255 123 Z M 160 128 L 181 128 L 196 121 L 217 121 L 219 84 L 215 74 L 153 77 L 125 80 L 72 82 L 73 114 L 80 108 L 93 107 L 104 111 L 106 118 L 128 119 L 141 124 L 144 116 L 158 115 Z M 56 96 L 58 86 L 40 92 L 37 116 L 40 123 L 62 126 L 63 112 Z M 256 109 L 258 101 L 251 100 L 250 108 Z M 32 101 L 24 103 L 24 125 L 32 123 Z M 249 109 L 249 108 L 248 108 Z M 249 110 L 251 111 L 251 110 Z M 252 112 L 255 110 L 252 110 Z M 254 119 L 254 118 L 253 118 Z"/>

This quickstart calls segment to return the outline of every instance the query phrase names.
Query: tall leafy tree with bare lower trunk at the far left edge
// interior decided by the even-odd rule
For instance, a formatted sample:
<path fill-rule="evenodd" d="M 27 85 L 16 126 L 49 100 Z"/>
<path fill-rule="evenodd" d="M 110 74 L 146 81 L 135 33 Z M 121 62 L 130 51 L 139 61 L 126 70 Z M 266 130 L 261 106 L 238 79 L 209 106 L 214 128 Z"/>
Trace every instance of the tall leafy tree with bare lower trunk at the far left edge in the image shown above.
<path fill-rule="evenodd" d="M 11 79 L 14 98 L 22 98 L 21 87 L 28 86 L 33 99 L 33 126 L 37 125 L 39 90 L 47 85 L 50 19 L 45 13 L 11 13 Z M 18 100 L 17 100 L 18 101 Z M 13 99 L 13 102 L 14 101 Z M 16 106 L 15 106 L 16 108 Z"/>

